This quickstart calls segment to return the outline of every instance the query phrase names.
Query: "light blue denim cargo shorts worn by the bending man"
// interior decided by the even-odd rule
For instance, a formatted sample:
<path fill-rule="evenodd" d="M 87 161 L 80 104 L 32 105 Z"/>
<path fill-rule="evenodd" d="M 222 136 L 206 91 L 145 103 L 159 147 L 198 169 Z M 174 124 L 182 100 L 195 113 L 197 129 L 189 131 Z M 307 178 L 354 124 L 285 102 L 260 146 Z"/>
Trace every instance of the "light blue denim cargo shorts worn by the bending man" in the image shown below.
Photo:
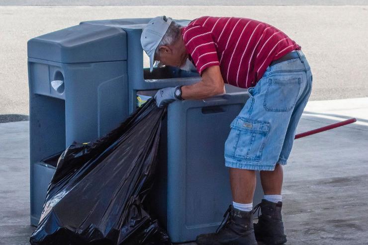
<path fill-rule="evenodd" d="M 250 98 L 231 123 L 225 142 L 225 165 L 248 170 L 286 165 L 296 126 L 312 89 L 312 73 L 301 51 L 299 58 L 269 66 Z"/>

